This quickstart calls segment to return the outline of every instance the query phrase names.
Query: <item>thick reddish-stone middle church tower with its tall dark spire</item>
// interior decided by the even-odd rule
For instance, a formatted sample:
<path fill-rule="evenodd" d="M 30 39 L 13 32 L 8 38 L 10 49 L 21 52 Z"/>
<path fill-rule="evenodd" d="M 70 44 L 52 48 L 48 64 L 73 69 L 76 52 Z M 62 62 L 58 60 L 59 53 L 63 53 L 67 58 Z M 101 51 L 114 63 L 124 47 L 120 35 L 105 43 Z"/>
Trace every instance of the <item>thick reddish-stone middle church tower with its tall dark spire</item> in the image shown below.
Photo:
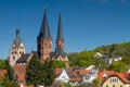
<path fill-rule="evenodd" d="M 50 53 L 52 52 L 52 37 L 49 29 L 47 10 L 44 10 L 40 33 L 37 37 L 37 52 L 41 61 L 50 58 Z"/>

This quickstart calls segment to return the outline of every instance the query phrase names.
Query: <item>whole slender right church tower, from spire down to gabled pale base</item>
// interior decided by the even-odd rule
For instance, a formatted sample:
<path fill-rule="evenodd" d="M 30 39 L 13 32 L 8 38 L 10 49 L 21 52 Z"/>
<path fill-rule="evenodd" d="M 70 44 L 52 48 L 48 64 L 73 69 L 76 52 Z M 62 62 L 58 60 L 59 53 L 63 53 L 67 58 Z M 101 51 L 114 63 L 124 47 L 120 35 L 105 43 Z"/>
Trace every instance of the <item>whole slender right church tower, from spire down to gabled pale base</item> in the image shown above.
<path fill-rule="evenodd" d="M 63 37 L 63 27 L 62 27 L 62 18 L 61 13 L 58 15 L 58 26 L 57 26 L 57 37 L 55 41 L 55 51 L 53 53 L 52 59 L 53 60 L 60 60 L 60 61 L 68 61 L 67 54 L 64 51 L 64 37 Z"/>

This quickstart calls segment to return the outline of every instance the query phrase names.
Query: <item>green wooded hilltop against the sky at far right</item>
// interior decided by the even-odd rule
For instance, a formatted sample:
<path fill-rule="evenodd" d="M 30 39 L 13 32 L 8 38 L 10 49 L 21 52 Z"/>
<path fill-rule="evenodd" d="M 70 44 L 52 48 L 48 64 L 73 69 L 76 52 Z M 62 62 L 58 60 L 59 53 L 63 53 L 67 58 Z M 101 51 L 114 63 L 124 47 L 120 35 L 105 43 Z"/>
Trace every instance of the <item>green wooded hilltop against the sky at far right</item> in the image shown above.
<path fill-rule="evenodd" d="M 101 47 L 95 48 L 94 51 L 101 52 L 109 57 L 130 55 L 130 42 L 101 46 Z"/>

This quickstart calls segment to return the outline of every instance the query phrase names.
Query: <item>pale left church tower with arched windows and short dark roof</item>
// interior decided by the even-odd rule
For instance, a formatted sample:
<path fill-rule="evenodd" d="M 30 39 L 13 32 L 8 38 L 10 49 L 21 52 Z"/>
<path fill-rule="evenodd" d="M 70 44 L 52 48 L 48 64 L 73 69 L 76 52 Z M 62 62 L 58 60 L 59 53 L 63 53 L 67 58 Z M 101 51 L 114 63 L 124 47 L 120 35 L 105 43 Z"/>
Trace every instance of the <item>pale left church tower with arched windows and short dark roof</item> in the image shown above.
<path fill-rule="evenodd" d="M 25 46 L 20 37 L 20 29 L 16 28 L 16 36 L 13 40 L 13 44 L 10 48 L 9 62 L 10 65 L 15 65 L 16 61 L 21 58 L 22 54 L 26 53 Z"/>

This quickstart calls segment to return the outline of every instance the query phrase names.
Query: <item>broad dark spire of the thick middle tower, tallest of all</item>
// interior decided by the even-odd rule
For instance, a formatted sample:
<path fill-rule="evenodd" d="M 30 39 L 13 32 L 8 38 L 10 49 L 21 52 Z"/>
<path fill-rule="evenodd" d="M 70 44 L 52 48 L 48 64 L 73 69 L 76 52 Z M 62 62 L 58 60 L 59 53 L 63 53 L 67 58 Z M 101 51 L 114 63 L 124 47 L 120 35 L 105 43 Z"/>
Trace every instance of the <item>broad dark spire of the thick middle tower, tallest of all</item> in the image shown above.
<path fill-rule="evenodd" d="M 42 21 L 40 33 L 39 33 L 39 38 L 43 38 L 43 39 L 51 38 L 46 9 L 44 9 L 43 21 Z"/>

